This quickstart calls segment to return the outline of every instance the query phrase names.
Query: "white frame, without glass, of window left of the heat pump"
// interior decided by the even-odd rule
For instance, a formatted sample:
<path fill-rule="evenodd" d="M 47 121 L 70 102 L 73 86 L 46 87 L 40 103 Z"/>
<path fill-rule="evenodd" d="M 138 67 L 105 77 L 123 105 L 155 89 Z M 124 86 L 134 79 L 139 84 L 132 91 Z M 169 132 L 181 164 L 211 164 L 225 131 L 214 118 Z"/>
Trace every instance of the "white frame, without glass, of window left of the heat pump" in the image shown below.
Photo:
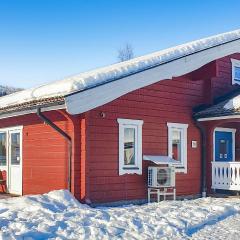
<path fill-rule="evenodd" d="M 117 119 L 119 124 L 119 175 L 142 175 L 142 120 Z M 124 164 L 124 129 L 135 129 L 135 165 Z"/>

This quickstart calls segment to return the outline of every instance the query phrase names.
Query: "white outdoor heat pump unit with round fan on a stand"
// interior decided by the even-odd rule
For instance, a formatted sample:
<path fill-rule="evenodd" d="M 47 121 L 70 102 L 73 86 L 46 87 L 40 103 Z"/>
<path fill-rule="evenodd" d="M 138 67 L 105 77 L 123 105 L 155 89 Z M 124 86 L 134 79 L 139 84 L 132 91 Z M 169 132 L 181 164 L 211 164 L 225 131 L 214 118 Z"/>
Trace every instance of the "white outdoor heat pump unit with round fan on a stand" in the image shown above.
<path fill-rule="evenodd" d="M 174 167 L 148 167 L 148 187 L 169 188 L 175 187 Z"/>

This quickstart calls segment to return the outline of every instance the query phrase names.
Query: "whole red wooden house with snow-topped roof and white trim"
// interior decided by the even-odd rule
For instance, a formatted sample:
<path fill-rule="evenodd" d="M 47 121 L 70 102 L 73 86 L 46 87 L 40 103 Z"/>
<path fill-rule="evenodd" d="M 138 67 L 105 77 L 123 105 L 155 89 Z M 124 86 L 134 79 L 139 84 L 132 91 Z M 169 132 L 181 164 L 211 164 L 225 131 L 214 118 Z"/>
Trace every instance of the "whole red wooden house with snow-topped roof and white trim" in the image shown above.
<path fill-rule="evenodd" d="M 178 196 L 240 190 L 240 31 L 0 98 L 7 191 L 147 198 L 144 155 L 177 160 Z"/>

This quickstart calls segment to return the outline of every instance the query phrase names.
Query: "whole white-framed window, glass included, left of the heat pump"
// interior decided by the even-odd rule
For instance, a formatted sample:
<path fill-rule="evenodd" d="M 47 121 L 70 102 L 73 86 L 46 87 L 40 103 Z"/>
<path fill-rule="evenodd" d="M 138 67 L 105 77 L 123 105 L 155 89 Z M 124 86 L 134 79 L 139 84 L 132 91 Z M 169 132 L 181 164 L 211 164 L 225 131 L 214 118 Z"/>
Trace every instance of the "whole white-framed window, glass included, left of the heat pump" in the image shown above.
<path fill-rule="evenodd" d="M 119 175 L 142 174 L 142 120 L 118 119 Z"/>

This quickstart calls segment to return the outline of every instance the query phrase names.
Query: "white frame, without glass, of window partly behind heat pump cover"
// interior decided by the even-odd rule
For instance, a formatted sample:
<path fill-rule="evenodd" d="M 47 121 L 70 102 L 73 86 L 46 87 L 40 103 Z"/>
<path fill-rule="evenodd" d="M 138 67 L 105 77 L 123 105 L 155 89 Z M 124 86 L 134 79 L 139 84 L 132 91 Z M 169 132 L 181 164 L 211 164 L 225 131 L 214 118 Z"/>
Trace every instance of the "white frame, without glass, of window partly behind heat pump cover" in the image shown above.
<path fill-rule="evenodd" d="M 177 129 L 181 131 L 181 163 L 172 164 L 176 172 L 187 173 L 187 129 L 188 124 L 167 123 L 168 127 L 168 156 L 172 158 L 172 131 Z"/>

